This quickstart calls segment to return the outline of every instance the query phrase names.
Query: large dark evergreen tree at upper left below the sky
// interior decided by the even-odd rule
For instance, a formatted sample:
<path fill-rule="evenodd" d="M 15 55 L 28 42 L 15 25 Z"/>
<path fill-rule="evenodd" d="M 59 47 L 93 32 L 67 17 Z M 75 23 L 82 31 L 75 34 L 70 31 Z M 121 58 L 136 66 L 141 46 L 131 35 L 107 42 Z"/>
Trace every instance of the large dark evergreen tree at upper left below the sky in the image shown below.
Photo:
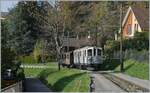
<path fill-rule="evenodd" d="M 10 42 L 17 54 L 30 54 L 37 39 L 44 36 L 45 21 L 40 18 L 40 15 L 46 15 L 44 5 L 43 2 L 21 1 L 10 11 Z"/>

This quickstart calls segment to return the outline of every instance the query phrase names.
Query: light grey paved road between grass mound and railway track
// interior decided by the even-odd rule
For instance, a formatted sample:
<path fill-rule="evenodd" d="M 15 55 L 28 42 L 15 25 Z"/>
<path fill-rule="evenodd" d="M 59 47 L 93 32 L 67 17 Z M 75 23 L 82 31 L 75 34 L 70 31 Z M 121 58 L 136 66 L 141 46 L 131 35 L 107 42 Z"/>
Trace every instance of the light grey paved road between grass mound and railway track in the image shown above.
<path fill-rule="evenodd" d="M 102 74 L 92 73 L 95 82 L 95 92 L 124 92 L 123 89 L 106 79 Z"/>

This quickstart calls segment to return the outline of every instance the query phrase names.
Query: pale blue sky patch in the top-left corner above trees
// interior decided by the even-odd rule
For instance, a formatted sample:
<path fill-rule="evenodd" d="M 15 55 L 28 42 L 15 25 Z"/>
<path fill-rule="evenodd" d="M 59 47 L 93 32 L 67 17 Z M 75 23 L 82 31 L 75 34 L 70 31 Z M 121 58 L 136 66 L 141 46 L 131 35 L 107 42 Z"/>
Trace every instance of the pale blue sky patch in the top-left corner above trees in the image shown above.
<path fill-rule="evenodd" d="M 18 3 L 18 1 L 19 0 L 0 0 L 0 12 L 8 12 L 9 9 L 13 8 Z M 49 2 L 54 4 L 55 0 L 49 0 Z"/>

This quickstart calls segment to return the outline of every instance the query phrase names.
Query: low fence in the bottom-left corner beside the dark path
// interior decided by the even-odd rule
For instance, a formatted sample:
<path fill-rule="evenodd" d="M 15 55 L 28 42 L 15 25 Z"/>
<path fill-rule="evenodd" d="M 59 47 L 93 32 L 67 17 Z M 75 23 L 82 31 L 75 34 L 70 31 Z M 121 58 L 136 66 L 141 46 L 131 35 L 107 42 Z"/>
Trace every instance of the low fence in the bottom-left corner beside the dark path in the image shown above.
<path fill-rule="evenodd" d="M 13 85 L 10 85 L 2 89 L 1 92 L 22 92 L 22 90 L 23 90 L 22 81 L 19 81 Z"/>

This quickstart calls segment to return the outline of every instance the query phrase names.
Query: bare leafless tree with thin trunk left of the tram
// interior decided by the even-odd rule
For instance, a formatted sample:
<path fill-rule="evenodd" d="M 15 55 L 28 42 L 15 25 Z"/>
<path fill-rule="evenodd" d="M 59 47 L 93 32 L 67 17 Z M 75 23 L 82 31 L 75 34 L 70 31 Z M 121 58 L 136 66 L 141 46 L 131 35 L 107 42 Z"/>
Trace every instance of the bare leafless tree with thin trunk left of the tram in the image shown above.
<path fill-rule="evenodd" d="M 43 1 L 47 2 L 47 1 Z M 48 2 L 47 2 L 48 3 Z M 47 14 L 42 15 L 39 12 L 32 11 L 32 15 L 36 16 L 39 22 L 42 21 L 44 26 L 41 25 L 41 28 L 46 29 L 42 33 L 42 38 L 51 38 L 49 41 L 50 46 L 55 46 L 54 50 L 56 50 L 58 68 L 60 70 L 61 64 L 61 55 L 63 48 L 63 18 L 61 16 L 61 12 L 59 9 L 59 2 L 55 1 L 55 5 L 53 7 L 47 8 Z"/>

